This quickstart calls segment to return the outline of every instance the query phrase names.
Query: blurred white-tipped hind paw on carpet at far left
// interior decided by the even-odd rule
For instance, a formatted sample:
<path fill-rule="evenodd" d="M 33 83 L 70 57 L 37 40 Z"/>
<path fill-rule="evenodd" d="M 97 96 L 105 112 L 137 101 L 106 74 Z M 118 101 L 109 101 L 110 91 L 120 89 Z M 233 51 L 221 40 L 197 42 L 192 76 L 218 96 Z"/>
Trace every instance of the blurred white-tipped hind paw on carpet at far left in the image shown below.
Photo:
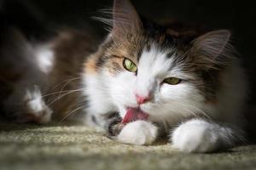
<path fill-rule="evenodd" d="M 37 122 L 44 124 L 50 121 L 52 111 L 44 103 L 44 99 L 38 87 L 26 91 L 23 103 L 23 113 L 21 113 L 18 119 L 20 122 Z"/>

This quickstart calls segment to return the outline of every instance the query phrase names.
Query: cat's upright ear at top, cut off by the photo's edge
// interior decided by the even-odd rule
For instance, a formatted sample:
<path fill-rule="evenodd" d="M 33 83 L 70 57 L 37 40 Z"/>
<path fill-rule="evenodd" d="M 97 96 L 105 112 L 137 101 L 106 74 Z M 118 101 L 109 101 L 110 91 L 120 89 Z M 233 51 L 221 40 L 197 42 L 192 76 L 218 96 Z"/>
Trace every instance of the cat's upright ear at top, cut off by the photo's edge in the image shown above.
<path fill-rule="evenodd" d="M 130 0 L 114 0 L 113 2 L 113 36 L 122 36 L 129 32 L 137 32 L 142 23 Z"/>

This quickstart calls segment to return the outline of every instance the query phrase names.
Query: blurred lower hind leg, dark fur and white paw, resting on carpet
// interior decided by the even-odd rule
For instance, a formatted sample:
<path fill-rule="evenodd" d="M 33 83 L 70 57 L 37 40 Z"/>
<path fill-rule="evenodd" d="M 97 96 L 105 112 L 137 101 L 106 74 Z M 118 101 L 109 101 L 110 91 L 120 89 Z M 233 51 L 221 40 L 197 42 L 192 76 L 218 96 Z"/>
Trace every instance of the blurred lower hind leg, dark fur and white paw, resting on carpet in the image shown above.
<path fill-rule="evenodd" d="M 52 111 L 45 104 L 38 86 L 16 89 L 4 105 L 16 122 L 47 123 L 51 119 Z"/>

